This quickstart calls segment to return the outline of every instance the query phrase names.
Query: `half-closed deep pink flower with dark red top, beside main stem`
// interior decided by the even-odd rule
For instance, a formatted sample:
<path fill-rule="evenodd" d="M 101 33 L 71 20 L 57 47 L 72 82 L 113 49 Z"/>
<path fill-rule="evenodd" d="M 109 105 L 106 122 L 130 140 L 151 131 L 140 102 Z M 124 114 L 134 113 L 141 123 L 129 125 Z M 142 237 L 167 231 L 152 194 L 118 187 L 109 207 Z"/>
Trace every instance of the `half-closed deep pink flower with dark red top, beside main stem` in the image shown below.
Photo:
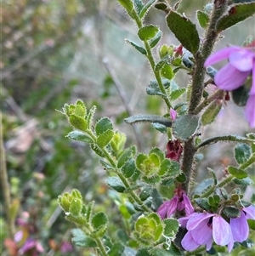
<path fill-rule="evenodd" d="M 194 213 L 194 208 L 190 202 L 190 198 L 181 189 L 177 189 L 176 195 L 171 200 L 163 202 L 157 209 L 157 213 L 161 216 L 161 219 L 170 218 L 170 216 L 177 210 L 184 210 L 186 215 Z"/>

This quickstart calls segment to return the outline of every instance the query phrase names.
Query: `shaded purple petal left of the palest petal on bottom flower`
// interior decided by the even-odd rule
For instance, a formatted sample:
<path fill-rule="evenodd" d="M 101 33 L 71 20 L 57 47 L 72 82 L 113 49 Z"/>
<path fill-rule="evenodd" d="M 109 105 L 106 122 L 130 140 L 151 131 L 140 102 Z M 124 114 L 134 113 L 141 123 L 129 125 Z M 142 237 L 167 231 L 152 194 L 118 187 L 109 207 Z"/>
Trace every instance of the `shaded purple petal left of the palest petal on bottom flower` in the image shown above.
<path fill-rule="evenodd" d="M 208 219 L 201 221 L 194 230 L 191 230 L 191 236 L 194 241 L 200 245 L 206 244 L 207 251 L 212 247 L 212 229 L 207 225 Z"/>

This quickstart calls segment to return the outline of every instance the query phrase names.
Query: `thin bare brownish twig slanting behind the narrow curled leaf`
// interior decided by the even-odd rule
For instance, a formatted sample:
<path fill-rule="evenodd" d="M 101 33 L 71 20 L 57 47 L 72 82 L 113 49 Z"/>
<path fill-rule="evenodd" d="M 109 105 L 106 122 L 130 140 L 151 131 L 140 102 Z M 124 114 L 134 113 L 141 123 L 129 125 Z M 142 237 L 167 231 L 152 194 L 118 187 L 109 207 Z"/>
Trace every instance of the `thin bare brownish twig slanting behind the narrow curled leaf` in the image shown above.
<path fill-rule="evenodd" d="M 121 99 L 122 99 L 122 103 L 123 105 L 125 106 L 125 109 L 127 111 L 127 114 L 129 117 L 133 116 L 133 111 L 131 110 L 130 106 L 128 105 L 128 102 L 127 102 L 127 94 L 125 93 L 125 91 L 123 90 L 122 88 L 122 84 L 121 82 L 117 79 L 114 71 L 112 71 L 111 69 L 111 66 L 109 64 L 109 61 L 107 59 L 103 59 L 103 63 L 105 65 L 105 68 L 106 70 L 109 72 L 109 74 L 111 75 L 111 78 L 113 80 L 113 83 L 115 84 L 116 86 L 116 89 L 117 89 L 117 92 L 118 94 L 120 95 Z M 142 148 L 142 142 L 140 140 L 140 137 L 139 137 L 139 131 L 138 129 L 136 128 L 136 126 L 132 126 L 133 128 L 133 134 L 135 136 L 135 139 L 137 141 L 137 145 L 138 145 L 138 148 L 139 150 L 141 150 Z"/>

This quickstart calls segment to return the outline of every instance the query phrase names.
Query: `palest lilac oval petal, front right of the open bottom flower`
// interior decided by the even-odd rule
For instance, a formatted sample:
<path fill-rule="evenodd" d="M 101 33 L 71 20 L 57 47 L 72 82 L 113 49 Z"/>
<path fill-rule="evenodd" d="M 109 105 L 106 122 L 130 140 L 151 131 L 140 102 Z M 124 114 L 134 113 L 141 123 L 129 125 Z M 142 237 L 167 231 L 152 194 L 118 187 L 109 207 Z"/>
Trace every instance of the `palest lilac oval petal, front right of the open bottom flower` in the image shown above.
<path fill-rule="evenodd" d="M 218 245 L 227 245 L 231 240 L 231 229 L 229 223 L 221 216 L 212 219 L 212 237 Z"/>

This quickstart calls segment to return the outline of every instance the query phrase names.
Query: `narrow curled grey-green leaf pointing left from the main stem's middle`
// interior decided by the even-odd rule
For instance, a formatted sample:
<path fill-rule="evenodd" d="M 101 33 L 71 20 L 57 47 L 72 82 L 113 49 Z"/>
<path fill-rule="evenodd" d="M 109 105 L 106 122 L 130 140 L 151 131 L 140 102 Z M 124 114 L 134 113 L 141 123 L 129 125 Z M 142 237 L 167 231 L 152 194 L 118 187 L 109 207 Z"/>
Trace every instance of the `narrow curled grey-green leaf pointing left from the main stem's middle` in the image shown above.
<path fill-rule="evenodd" d="M 133 124 L 136 122 L 158 122 L 167 127 L 172 126 L 172 121 L 170 119 L 156 115 L 135 115 L 125 118 L 124 121 L 129 124 Z"/>

